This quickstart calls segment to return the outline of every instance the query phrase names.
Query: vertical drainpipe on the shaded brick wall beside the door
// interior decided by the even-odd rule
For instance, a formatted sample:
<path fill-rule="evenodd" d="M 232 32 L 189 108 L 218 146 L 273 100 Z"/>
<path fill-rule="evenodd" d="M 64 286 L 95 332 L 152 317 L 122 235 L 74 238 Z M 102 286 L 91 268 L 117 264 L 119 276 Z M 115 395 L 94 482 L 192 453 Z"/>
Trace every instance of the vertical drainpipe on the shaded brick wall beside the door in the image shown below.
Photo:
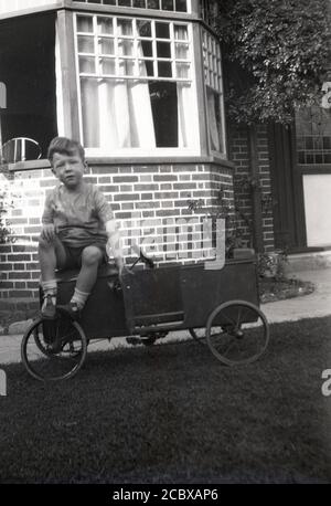
<path fill-rule="evenodd" d="M 261 191 L 259 186 L 257 133 L 256 126 L 247 127 L 249 170 L 252 178 L 252 208 L 253 208 L 253 246 L 256 253 L 264 252 Z"/>

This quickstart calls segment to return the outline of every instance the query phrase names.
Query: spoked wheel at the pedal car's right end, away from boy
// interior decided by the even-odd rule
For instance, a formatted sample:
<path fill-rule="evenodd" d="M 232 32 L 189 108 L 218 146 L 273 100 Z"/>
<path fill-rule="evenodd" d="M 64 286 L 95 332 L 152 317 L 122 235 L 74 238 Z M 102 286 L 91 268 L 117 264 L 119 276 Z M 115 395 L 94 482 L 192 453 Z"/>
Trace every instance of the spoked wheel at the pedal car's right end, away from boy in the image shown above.
<path fill-rule="evenodd" d="M 246 301 L 221 304 L 207 319 L 206 342 L 213 355 L 226 366 L 257 360 L 268 341 L 269 326 L 265 315 Z"/>

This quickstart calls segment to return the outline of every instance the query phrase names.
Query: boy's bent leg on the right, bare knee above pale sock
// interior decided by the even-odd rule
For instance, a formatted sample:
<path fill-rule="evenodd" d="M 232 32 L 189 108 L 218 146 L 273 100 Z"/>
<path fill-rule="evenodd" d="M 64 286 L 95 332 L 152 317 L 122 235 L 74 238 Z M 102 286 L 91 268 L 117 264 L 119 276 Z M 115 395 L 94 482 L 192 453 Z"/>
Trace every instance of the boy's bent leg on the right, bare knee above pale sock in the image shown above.
<path fill-rule="evenodd" d="M 98 246 L 86 246 L 82 253 L 82 268 L 78 274 L 75 292 L 71 303 L 77 305 L 77 309 L 82 309 L 87 301 L 92 288 L 95 285 L 98 266 L 104 257 L 103 251 Z"/>

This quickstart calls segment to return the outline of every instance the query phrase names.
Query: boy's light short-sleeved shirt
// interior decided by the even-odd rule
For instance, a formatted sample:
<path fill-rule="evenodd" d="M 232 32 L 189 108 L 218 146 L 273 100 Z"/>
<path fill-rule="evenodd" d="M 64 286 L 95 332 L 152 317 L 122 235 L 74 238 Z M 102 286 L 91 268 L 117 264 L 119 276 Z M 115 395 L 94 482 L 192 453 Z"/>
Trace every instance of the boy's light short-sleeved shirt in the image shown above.
<path fill-rule="evenodd" d="M 83 182 L 78 192 L 64 185 L 47 196 L 42 223 L 53 223 L 58 239 L 71 247 L 106 243 L 105 223 L 114 219 L 105 196 L 90 183 Z"/>

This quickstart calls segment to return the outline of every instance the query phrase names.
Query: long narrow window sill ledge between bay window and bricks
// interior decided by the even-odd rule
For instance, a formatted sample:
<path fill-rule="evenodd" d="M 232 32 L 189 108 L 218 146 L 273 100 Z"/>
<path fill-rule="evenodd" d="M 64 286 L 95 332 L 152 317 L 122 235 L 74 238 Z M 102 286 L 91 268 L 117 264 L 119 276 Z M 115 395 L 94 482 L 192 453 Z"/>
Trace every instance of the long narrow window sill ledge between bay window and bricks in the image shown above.
<path fill-rule="evenodd" d="M 109 165 L 131 165 L 131 166 L 146 166 L 146 165 L 175 165 L 175 164 L 213 164 L 221 165 L 228 169 L 234 168 L 234 164 L 222 156 L 202 156 L 202 157 L 130 157 L 130 158 L 115 158 L 115 157 L 86 157 L 86 160 L 92 166 Z M 47 159 L 18 161 L 17 164 L 6 164 L 0 167 L 0 173 L 12 173 L 24 170 L 50 169 L 51 164 Z"/>

